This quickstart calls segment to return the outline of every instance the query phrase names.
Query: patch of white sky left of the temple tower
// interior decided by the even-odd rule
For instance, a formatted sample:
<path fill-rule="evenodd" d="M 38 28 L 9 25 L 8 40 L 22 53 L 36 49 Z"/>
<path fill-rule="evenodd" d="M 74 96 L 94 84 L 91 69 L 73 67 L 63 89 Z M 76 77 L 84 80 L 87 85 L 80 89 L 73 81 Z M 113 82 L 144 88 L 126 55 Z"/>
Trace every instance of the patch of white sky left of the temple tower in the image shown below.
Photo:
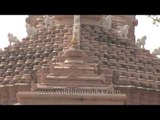
<path fill-rule="evenodd" d="M 10 32 L 18 39 L 25 38 L 27 15 L 0 15 L 0 48 L 7 47 L 9 45 L 7 34 Z"/>

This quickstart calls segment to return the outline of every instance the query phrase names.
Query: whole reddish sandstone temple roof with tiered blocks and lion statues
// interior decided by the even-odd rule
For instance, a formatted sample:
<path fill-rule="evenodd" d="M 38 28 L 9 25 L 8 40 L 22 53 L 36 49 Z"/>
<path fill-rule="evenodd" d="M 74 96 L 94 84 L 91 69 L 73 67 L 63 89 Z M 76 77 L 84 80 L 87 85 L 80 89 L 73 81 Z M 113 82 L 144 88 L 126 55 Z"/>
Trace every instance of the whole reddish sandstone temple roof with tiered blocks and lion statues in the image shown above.
<path fill-rule="evenodd" d="M 160 104 L 160 59 L 134 15 L 29 15 L 0 51 L 0 104 Z"/>

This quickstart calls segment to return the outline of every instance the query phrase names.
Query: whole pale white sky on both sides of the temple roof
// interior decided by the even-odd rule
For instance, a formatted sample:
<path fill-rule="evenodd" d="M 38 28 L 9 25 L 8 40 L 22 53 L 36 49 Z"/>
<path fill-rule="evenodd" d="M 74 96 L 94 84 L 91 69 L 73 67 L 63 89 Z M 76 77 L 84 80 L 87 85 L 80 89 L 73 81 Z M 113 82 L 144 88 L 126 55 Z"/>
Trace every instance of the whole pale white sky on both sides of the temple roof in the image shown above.
<path fill-rule="evenodd" d="M 7 36 L 9 32 L 20 40 L 27 36 L 25 28 L 27 17 L 27 15 L 0 15 L 0 48 L 9 45 Z M 136 18 L 138 19 L 138 25 L 135 27 L 136 40 L 146 35 L 147 50 L 152 52 L 160 47 L 160 27 L 154 26 L 146 15 L 138 15 Z"/>

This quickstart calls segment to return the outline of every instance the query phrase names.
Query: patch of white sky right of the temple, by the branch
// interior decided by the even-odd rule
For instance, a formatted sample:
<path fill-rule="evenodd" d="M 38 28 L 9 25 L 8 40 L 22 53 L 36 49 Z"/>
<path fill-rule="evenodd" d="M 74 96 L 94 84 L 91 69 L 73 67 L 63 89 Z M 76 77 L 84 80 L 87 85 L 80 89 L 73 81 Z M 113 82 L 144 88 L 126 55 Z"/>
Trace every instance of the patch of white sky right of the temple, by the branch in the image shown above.
<path fill-rule="evenodd" d="M 136 40 L 146 35 L 145 49 L 152 52 L 155 48 L 160 47 L 160 24 L 158 27 L 153 25 L 152 19 L 146 15 L 138 15 L 136 18 L 138 19 L 138 25 L 135 27 Z"/>

